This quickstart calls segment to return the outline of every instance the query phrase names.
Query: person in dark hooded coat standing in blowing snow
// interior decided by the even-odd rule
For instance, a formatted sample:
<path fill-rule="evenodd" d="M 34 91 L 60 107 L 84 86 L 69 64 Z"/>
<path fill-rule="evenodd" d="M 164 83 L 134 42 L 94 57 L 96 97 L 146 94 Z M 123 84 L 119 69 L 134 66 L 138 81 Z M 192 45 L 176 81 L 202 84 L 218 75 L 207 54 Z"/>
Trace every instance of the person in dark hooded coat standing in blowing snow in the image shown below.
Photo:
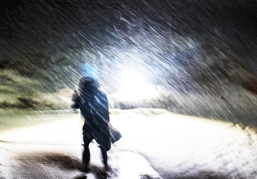
<path fill-rule="evenodd" d="M 72 96 L 71 107 L 80 109 L 85 123 L 83 126 L 84 151 L 82 156 L 83 171 L 89 168 L 89 144 L 95 139 L 100 145 L 103 163 L 107 169 L 107 151 L 111 148 L 109 129 L 109 108 L 106 94 L 99 90 L 99 83 L 90 76 L 79 78 L 77 89 Z"/>

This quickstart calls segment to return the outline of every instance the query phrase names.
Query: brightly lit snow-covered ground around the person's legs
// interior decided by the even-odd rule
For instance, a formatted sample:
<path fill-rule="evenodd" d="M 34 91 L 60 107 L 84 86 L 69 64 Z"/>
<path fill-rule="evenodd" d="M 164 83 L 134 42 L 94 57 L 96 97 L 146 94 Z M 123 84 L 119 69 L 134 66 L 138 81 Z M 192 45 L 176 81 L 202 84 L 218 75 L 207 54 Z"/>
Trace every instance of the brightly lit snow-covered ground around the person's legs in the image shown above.
<path fill-rule="evenodd" d="M 108 152 L 108 178 L 256 178 L 254 127 L 162 109 L 110 112 L 123 137 Z M 76 170 L 82 149 L 79 114 L 27 115 L 40 117 L 44 123 L 1 130 L 0 178 L 101 178 L 95 142 L 91 172 Z"/>

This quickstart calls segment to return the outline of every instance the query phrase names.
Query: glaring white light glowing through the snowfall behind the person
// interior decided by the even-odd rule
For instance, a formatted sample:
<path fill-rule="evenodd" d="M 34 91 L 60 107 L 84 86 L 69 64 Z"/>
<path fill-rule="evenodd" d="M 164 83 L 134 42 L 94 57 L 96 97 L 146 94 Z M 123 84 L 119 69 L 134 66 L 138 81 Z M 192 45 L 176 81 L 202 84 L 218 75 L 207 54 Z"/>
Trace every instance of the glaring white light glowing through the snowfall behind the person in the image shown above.
<path fill-rule="evenodd" d="M 136 101 L 158 96 L 158 91 L 146 84 L 144 76 L 136 71 L 125 71 L 121 76 L 119 100 Z"/>

